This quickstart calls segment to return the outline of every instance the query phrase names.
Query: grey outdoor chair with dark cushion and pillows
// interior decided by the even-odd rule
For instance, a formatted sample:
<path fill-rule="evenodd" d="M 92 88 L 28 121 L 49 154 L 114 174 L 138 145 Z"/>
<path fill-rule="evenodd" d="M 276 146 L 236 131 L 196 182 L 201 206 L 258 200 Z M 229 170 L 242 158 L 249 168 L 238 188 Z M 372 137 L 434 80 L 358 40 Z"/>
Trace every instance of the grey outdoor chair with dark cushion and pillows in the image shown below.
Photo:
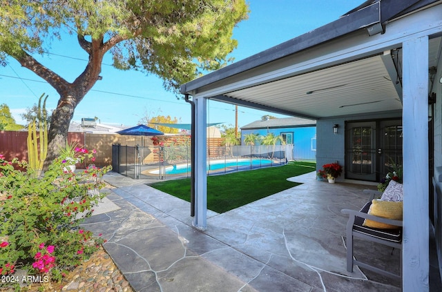
<path fill-rule="evenodd" d="M 386 217 L 379 217 L 376 215 L 369 214 L 369 208 L 374 203 L 378 203 L 375 198 L 381 197 L 382 193 L 378 191 L 365 190 L 364 193 L 369 193 L 370 199 L 360 211 L 354 211 L 349 209 L 341 210 L 341 213 L 348 214 L 349 220 L 347 222 L 347 271 L 350 273 L 353 272 L 353 265 L 356 264 L 363 269 L 368 269 L 370 271 L 374 271 L 381 275 L 385 275 L 390 278 L 394 278 L 397 280 L 401 280 L 402 274 L 402 257 L 401 257 L 401 269 L 400 275 L 396 275 L 395 273 L 391 273 L 390 271 L 385 271 L 383 269 L 379 269 L 376 266 L 372 266 L 371 264 L 367 264 L 365 262 L 361 262 L 361 260 L 356 260 L 353 256 L 353 238 L 358 237 L 362 240 L 367 240 L 370 242 L 377 242 L 379 244 L 384 244 L 386 246 L 391 246 L 392 248 L 402 249 L 402 220 L 396 219 L 388 219 Z M 394 203 L 394 202 L 390 202 Z M 402 202 L 398 202 L 401 203 Z M 402 205 L 401 205 L 402 208 Z M 402 212 L 402 209 L 400 210 Z M 402 213 L 401 216 L 402 218 Z M 382 228 L 374 228 L 365 226 L 365 220 L 370 221 L 373 226 L 378 226 L 378 224 L 389 224 L 384 225 Z"/>

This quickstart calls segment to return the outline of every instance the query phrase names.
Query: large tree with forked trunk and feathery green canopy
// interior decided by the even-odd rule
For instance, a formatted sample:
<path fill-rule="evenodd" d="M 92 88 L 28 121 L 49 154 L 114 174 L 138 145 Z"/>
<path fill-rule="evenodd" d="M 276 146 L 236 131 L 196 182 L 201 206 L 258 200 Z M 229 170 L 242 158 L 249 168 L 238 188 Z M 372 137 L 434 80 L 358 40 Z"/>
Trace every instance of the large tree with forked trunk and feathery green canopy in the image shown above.
<path fill-rule="evenodd" d="M 66 144 L 74 110 L 99 79 L 106 52 L 122 70 L 152 72 L 168 90 L 224 66 L 236 48 L 233 27 L 247 18 L 244 0 L 15 0 L 0 2 L 0 64 L 10 56 L 59 93 L 45 168 Z M 77 35 L 88 64 L 72 83 L 39 63 L 52 39 Z"/>

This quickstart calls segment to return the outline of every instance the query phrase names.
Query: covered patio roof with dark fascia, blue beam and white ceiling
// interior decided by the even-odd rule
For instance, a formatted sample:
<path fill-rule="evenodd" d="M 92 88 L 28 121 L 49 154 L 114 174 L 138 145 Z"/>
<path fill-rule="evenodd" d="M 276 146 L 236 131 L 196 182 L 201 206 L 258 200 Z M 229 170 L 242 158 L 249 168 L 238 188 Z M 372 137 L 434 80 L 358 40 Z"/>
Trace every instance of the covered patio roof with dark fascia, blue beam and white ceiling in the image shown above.
<path fill-rule="evenodd" d="M 401 43 L 352 54 L 385 23 L 437 1 L 367 1 L 340 19 L 182 85 L 183 94 L 309 119 L 402 109 Z M 407 4 L 405 3 L 407 2 Z M 372 4 L 371 4 L 372 3 Z M 382 16 L 381 16 L 382 15 Z M 365 44 L 363 44 L 365 43 Z M 441 37 L 430 39 L 436 67 Z"/>

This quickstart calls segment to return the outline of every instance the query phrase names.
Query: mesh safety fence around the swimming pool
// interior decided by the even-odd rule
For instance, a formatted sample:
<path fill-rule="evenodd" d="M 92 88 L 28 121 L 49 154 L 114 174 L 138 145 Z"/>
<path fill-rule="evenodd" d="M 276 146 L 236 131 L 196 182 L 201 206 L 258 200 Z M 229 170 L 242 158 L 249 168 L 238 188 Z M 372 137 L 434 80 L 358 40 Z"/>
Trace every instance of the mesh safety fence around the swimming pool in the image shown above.
<path fill-rule="evenodd" d="M 293 144 L 207 148 L 207 175 L 284 165 Z M 191 176 L 190 146 L 112 146 L 113 171 L 133 179 Z"/>

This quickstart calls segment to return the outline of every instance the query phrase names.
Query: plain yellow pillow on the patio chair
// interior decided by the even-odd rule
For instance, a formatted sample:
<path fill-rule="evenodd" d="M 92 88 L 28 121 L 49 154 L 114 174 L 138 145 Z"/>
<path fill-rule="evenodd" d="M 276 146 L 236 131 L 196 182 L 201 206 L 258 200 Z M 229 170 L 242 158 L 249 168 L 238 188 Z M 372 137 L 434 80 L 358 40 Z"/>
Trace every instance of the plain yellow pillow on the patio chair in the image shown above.
<path fill-rule="evenodd" d="M 383 201 L 374 199 L 372 206 L 368 210 L 368 214 L 378 217 L 384 217 L 394 220 L 402 220 L 403 202 Z M 399 226 L 376 222 L 374 220 L 365 219 L 363 226 L 379 228 L 379 229 L 397 229 Z"/>

